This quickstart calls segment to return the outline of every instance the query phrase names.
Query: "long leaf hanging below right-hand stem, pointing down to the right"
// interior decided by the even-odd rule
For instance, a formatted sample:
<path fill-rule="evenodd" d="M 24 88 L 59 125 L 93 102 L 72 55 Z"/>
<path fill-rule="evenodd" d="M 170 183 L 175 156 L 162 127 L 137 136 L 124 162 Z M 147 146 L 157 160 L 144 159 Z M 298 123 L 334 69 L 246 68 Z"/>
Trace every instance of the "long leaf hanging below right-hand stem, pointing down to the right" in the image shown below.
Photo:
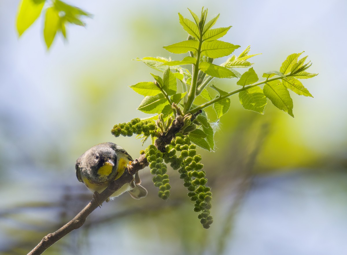
<path fill-rule="evenodd" d="M 264 85 L 264 95 L 269 98 L 274 106 L 278 109 L 293 115 L 293 100 L 289 95 L 289 91 L 279 80 L 270 81 Z"/>

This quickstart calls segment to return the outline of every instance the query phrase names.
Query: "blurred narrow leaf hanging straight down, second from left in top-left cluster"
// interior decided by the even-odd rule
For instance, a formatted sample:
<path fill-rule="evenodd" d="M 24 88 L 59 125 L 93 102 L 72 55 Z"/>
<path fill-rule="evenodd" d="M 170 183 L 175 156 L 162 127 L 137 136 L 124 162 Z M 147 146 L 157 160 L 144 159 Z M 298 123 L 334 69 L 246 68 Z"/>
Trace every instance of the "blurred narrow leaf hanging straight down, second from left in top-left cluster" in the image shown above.
<path fill-rule="evenodd" d="M 54 7 L 50 7 L 46 10 L 46 18 L 44 22 L 43 36 L 47 49 L 51 46 L 54 37 L 60 28 L 59 12 Z"/>

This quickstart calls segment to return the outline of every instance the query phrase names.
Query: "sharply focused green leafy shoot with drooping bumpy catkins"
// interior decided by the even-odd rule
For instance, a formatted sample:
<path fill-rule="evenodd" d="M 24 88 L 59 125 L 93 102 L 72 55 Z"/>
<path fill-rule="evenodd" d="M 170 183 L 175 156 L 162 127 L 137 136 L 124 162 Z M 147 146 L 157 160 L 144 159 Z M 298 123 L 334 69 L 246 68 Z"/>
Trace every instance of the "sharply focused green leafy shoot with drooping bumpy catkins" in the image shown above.
<path fill-rule="evenodd" d="M 240 47 L 220 40 L 231 26 L 212 28 L 219 15 L 207 21 L 207 9 L 202 9 L 200 18 L 193 11 L 189 12 L 193 20 L 178 14 L 179 23 L 188 33 L 187 40 L 164 46 L 171 53 L 188 55 L 178 60 L 161 57 L 136 59 L 162 72 L 161 75 L 151 73 L 153 81 L 130 86 L 144 96 L 138 109 L 155 114 L 151 117 L 157 119 L 155 125 L 152 120 L 135 119 L 130 123 L 115 125 L 112 133 L 116 136 L 136 133 L 145 139 L 151 136 L 154 145 L 147 147 L 143 153 L 154 175 L 154 186 L 159 188 L 159 196 L 164 200 L 170 196 L 166 174 L 166 164 L 170 164 L 174 170 L 178 169 L 188 190 L 187 195 L 195 203 L 194 211 L 200 213 L 198 219 L 202 226 L 209 228 L 213 221 L 210 216 L 212 193 L 210 187 L 206 186 L 201 155 L 196 152 L 196 147 L 208 151 L 215 148 L 211 116 L 207 116 L 205 108 L 213 106 L 215 116 L 212 118 L 219 121 L 230 108 L 230 96 L 239 94 L 239 102 L 247 110 L 263 114 L 267 99 L 270 99 L 274 106 L 294 117 L 289 90 L 297 95 L 312 97 L 299 79 L 312 78 L 317 74 L 306 71 L 311 64 L 305 63 L 307 56 L 299 59 L 302 52 L 290 54 L 279 71 L 265 72 L 262 75 L 264 80 L 259 81 L 259 76 L 251 67 L 253 63 L 249 62 L 250 58 L 259 54 L 249 55 L 250 46 L 238 56 L 232 55 L 226 62 L 214 64 L 216 58 L 228 56 Z M 237 68 L 248 70 L 241 74 L 235 70 Z M 211 85 L 216 78 L 228 78 L 232 85 L 242 87 L 231 90 L 230 86 L 224 91 Z M 177 79 L 180 83 L 177 83 Z M 199 101 L 195 100 L 198 96 Z"/>

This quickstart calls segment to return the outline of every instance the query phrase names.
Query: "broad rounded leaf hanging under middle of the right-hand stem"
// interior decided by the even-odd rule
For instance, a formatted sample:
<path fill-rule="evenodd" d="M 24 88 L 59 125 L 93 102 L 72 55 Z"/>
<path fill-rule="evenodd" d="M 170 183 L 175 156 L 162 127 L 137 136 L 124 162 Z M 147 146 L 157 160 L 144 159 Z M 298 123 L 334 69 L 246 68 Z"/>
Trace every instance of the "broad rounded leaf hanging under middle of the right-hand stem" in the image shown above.
<path fill-rule="evenodd" d="M 267 100 L 263 93 L 263 90 L 256 86 L 246 89 L 239 93 L 239 100 L 243 108 L 246 110 L 254 111 L 260 114 L 264 114 L 264 108 Z"/>

